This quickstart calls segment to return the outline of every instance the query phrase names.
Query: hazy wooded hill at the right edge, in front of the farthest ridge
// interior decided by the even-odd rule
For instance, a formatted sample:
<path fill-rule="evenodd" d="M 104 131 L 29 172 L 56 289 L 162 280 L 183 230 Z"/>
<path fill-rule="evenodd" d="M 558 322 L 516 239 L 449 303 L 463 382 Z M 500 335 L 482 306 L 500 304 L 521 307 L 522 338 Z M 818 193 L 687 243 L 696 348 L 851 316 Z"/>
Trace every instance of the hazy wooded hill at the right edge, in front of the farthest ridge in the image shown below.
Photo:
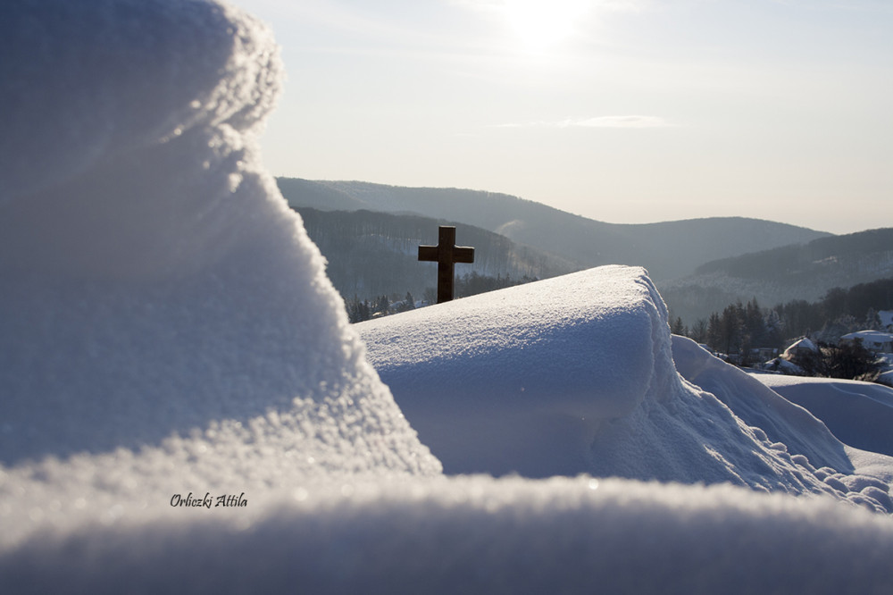
<path fill-rule="evenodd" d="M 763 306 L 814 301 L 833 288 L 893 277 L 893 229 L 814 239 L 703 264 L 689 277 L 658 283 L 672 314 L 694 323 L 752 298 Z"/>

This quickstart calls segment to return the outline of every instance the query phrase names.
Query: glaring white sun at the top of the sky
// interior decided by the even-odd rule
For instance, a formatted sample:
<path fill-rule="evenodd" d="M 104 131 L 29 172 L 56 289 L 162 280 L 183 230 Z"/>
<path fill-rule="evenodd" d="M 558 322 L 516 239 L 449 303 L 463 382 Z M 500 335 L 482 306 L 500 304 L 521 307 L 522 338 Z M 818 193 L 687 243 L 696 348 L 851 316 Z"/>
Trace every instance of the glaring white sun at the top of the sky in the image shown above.
<path fill-rule="evenodd" d="M 522 44 L 543 51 L 570 38 L 586 0 L 505 0 L 505 15 Z"/>

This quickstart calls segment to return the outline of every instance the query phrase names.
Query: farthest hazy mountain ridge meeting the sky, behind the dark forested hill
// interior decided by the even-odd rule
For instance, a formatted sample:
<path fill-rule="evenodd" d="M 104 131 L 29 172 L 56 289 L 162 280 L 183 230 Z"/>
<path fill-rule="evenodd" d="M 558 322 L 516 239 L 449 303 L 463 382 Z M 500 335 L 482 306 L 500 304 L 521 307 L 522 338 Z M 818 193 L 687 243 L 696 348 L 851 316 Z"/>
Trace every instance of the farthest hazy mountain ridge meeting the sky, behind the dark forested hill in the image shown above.
<path fill-rule="evenodd" d="M 743 217 L 623 224 L 598 222 L 505 194 L 467 189 L 405 188 L 361 181 L 277 180 L 293 207 L 420 214 L 462 222 L 561 256 L 579 268 L 632 264 L 654 281 L 693 274 L 716 258 L 801 244 L 830 234 Z"/>

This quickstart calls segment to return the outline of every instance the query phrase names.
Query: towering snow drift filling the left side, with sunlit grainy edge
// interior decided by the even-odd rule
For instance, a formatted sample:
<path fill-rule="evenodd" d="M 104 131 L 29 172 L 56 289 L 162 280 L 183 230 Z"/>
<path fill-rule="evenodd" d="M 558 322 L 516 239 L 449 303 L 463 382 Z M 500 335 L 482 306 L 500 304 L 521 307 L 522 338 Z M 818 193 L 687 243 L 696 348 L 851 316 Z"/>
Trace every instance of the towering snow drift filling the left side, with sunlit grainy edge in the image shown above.
<path fill-rule="evenodd" d="M 92 499 L 35 505 L 77 524 L 180 492 L 438 474 L 258 161 L 269 31 L 157 0 L 7 3 L 0 27 L 0 540 L 54 493 Z"/>

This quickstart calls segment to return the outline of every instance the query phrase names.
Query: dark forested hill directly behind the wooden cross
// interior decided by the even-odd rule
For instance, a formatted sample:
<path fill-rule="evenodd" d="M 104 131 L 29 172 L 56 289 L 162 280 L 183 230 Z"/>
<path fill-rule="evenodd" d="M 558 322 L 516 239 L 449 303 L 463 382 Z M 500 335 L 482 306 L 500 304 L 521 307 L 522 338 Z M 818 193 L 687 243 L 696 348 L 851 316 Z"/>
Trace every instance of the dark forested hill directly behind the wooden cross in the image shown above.
<path fill-rule="evenodd" d="M 456 275 L 476 272 L 492 277 L 546 279 L 583 268 L 560 256 L 516 244 L 492 231 L 419 215 L 371 211 L 295 209 L 322 255 L 327 272 L 346 299 L 405 292 L 421 298 L 437 285 L 437 264 L 418 260 L 422 244 L 438 243 L 438 225 L 456 227 L 456 243 L 474 247 L 473 264 L 456 264 Z"/>

